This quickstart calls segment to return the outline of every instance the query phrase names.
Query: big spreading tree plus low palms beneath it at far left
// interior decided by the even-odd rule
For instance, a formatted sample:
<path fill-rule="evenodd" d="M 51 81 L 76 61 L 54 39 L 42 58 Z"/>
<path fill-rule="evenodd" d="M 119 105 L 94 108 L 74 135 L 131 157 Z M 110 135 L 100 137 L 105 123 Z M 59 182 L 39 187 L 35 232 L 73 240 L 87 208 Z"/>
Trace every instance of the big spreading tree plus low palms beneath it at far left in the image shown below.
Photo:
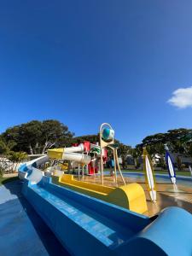
<path fill-rule="evenodd" d="M 70 145 L 73 132 L 67 125 L 58 120 L 32 120 L 15 125 L 0 135 L 0 176 L 6 171 L 7 160 L 13 163 L 15 171 L 17 163 L 27 159 L 27 154 L 44 154 L 48 148 Z"/>

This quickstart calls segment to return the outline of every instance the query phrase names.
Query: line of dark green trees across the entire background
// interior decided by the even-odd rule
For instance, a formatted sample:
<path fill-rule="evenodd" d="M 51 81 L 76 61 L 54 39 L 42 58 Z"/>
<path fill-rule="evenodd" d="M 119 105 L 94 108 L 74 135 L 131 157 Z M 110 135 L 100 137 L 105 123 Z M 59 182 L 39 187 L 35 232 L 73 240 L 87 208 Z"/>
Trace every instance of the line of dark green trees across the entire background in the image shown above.
<path fill-rule="evenodd" d="M 67 125 L 58 120 L 32 120 L 10 127 L 0 135 L 0 154 L 5 152 L 9 152 L 9 155 L 14 155 L 13 152 L 44 154 L 49 148 L 68 147 L 73 143 L 84 141 L 99 142 L 99 134 L 75 137 L 73 131 L 69 131 Z M 160 164 L 163 166 L 165 165 L 165 145 L 171 152 L 192 156 L 192 129 L 180 128 L 157 133 L 143 138 L 142 143 L 137 144 L 135 148 L 118 140 L 115 140 L 115 143 L 119 145 L 118 154 L 122 158 L 123 165 L 127 155 L 131 155 L 137 166 L 138 158 L 143 154 L 143 147 L 146 147 L 151 157 L 159 154 Z M 112 157 L 110 150 L 108 150 L 108 156 Z"/>

